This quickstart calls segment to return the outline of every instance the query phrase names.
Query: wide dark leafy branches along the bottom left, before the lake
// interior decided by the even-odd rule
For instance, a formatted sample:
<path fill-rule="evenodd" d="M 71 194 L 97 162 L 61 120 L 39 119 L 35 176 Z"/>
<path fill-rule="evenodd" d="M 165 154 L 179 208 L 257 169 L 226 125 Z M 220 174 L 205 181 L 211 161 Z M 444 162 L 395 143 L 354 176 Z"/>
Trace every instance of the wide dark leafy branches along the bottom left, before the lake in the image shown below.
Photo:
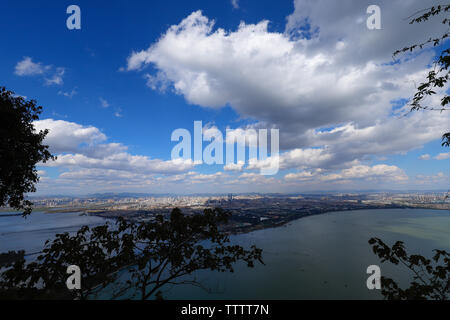
<path fill-rule="evenodd" d="M 87 299 L 108 290 L 111 298 L 161 298 L 168 284 L 201 286 L 188 278 L 197 270 L 231 271 L 243 261 L 262 262 L 262 250 L 229 244 L 219 230 L 229 214 L 205 209 L 185 216 L 174 209 L 170 218 L 133 223 L 120 218 L 115 225 L 83 227 L 76 234 L 58 234 L 47 241 L 36 261 L 24 258 L 8 265 L 0 278 L 0 296 L 7 298 Z M 69 265 L 81 269 L 81 290 L 69 291 Z"/>

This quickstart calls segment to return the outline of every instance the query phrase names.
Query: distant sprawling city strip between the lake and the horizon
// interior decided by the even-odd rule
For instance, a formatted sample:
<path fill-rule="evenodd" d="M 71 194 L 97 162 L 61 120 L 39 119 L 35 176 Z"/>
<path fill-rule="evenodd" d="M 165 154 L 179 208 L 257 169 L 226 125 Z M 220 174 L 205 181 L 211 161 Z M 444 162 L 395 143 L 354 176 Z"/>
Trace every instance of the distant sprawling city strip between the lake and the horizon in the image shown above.
<path fill-rule="evenodd" d="M 428 193 L 328 193 L 328 194 L 226 194 L 192 196 L 146 196 L 107 194 L 90 197 L 48 197 L 32 199 L 36 209 L 75 211 L 105 218 L 126 217 L 137 221 L 168 215 L 173 208 L 185 214 L 220 207 L 231 213 L 224 228 L 245 232 L 278 226 L 307 215 L 358 209 L 421 207 L 450 209 L 446 192 Z"/>

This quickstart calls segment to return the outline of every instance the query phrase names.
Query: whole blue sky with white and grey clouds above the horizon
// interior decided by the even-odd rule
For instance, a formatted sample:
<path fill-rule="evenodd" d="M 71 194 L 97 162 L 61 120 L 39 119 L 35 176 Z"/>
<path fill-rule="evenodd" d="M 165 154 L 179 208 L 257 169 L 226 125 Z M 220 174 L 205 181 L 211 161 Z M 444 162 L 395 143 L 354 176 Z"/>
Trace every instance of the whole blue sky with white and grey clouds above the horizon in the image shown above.
<path fill-rule="evenodd" d="M 81 30 L 66 27 L 71 4 Z M 0 84 L 44 106 L 37 127 L 60 155 L 38 192 L 447 188 L 448 115 L 399 116 L 435 53 L 389 63 L 440 27 L 412 32 L 403 12 L 420 1 L 380 1 L 383 28 L 368 30 L 368 5 L 2 1 Z M 196 120 L 279 129 L 279 172 L 172 163 L 171 133 Z"/>

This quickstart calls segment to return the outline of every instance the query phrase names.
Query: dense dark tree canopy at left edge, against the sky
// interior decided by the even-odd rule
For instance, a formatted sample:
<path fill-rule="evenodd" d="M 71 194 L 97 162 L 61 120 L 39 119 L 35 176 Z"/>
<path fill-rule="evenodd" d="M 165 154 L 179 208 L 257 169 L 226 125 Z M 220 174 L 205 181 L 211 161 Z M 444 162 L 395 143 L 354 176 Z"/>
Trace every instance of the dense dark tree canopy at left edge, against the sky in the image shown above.
<path fill-rule="evenodd" d="M 0 87 L 0 206 L 31 213 L 25 194 L 35 192 L 39 177 L 36 164 L 54 157 L 42 142 L 48 130 L 36 132 L 33 121 L 42 107 Z"/>

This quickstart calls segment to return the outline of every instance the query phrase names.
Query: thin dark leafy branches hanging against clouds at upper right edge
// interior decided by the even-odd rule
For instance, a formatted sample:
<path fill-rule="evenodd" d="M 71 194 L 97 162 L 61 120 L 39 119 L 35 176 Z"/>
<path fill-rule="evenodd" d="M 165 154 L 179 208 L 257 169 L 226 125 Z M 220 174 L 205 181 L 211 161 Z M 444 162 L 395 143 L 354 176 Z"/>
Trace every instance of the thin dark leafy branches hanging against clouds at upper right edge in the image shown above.
<path fill-rule="evenodd" d="M 435 16 L 444 15 L 442 23 L 446 26 L 450 26 L 450 18 L 448 13 L 450 12 L 450 4 L 433 6 L 428 9 L 424 9 L 413 15 L 410 24 L 426 22 Z M 419 15 L 420 14 L 420 15 Z M 405 47 L 403 49 L 394 52 L 394 57 L 403 52 L 412 52 L 417 49 L 423 49 L 428 45 L 434 47 L 442 45 L 449 37 L 449 30 L 439 37 L 431 37 L 428 40 Z M 434 62 L 433 70 L 429 71 L 426 81 L 421 83 L 417 87 L 417 91 L 411 101 L 411 111 L 416 110 L 434 110 L 434 111 L 449 111 L 450 97 L 447 92 L 441 98 L 440 106 L 429 106 L 424 104 L 425 98 L 436 94 L 437 88 L 444 88 L 449 80 L 449 65 L 450 65 L 450 49 L 443 49 L 436 61 Z M 444 133 L 442 136 L 442 145 L 450 147 L 450 132 Z"/>

